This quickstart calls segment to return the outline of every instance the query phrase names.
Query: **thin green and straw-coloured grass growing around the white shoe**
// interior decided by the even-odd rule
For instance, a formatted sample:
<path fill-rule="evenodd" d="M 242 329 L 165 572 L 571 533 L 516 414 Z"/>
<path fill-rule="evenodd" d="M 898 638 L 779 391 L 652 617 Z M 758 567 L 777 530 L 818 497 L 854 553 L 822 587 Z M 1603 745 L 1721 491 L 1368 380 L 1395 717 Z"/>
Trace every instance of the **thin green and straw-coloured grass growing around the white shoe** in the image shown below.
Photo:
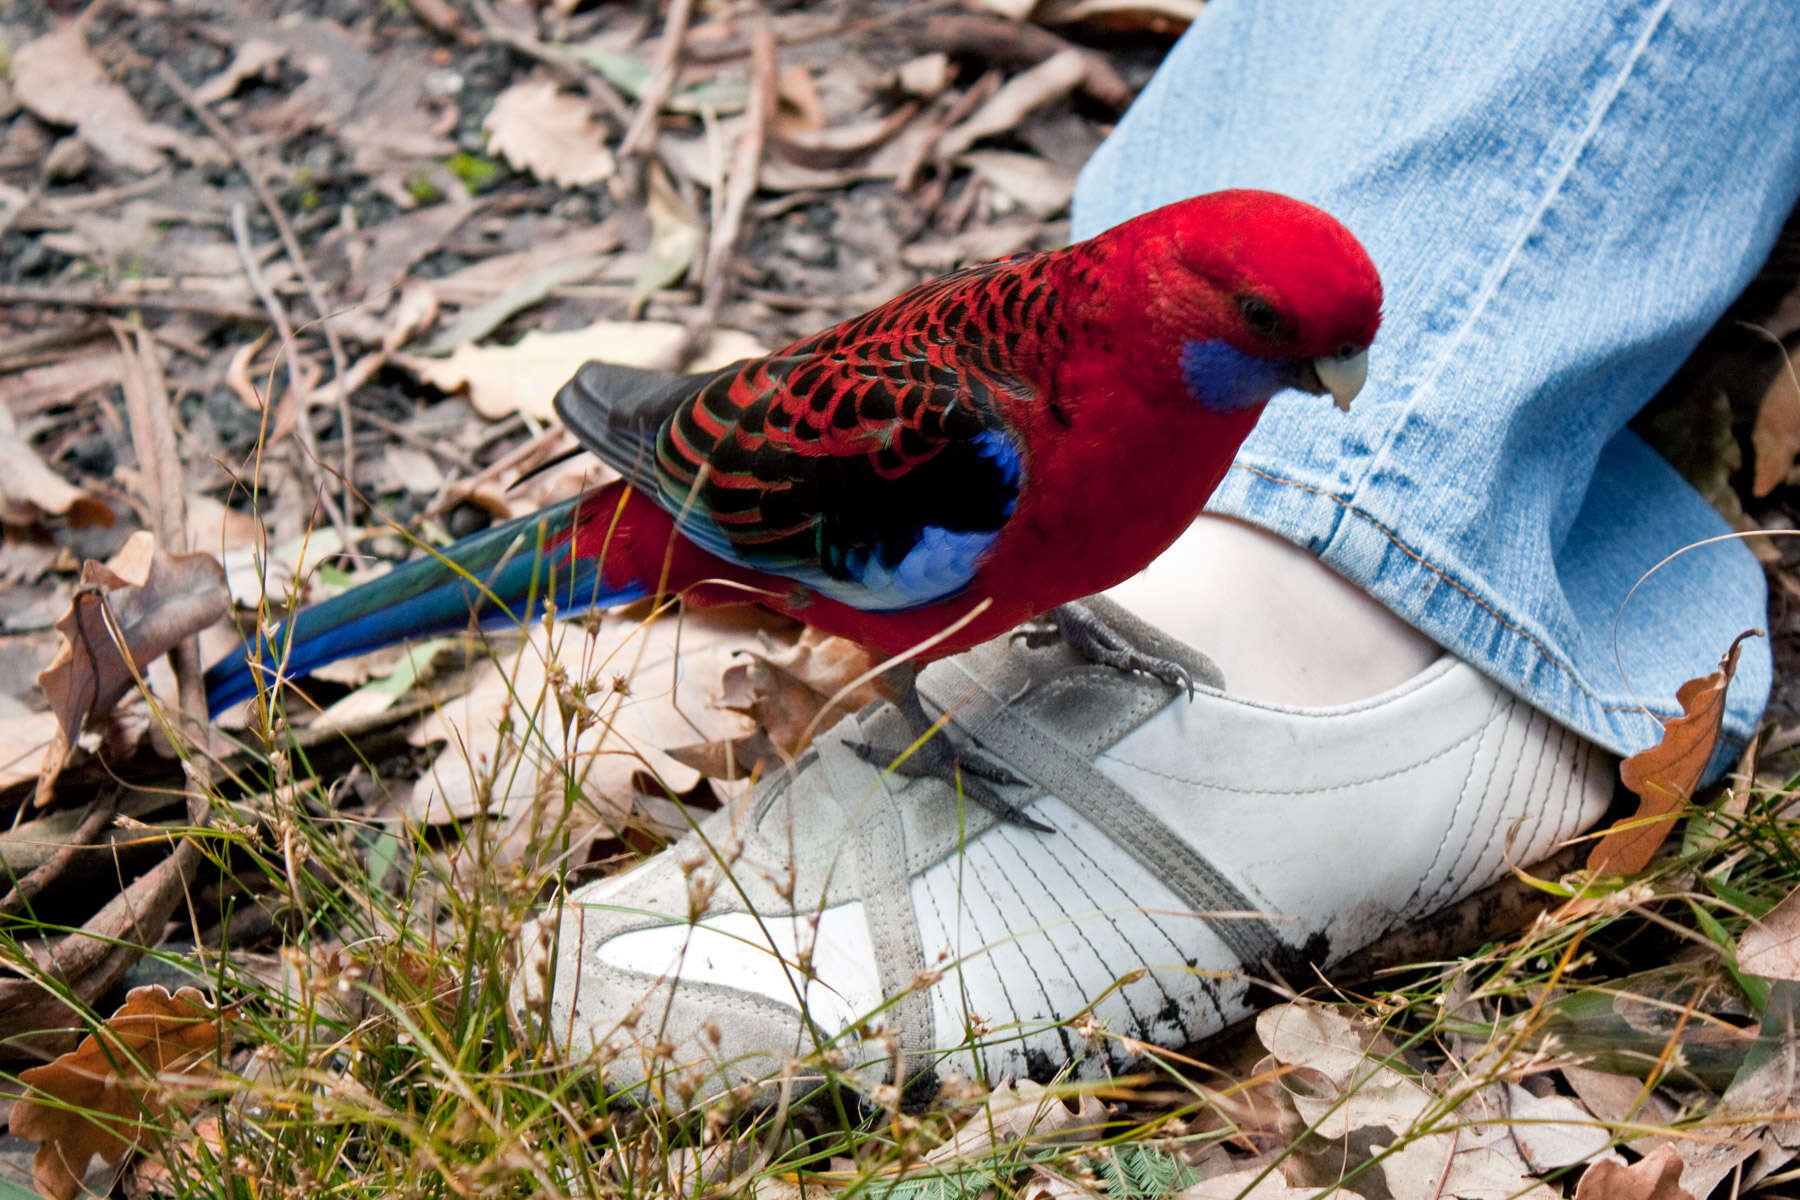
<path fill-rule="evenodd" d="M 544 738 L 544 705 L 572 703 L 585 709 L 580 721 L 605 723 L 628 693 L 560 682 L 554 694 L 515 698 L 520 739 Z M 146 1115 L 144 1151 L 184 1164 L 157 1184 L 166 1195 L 788 1196 L 806 1182 L 846 1196 L 974 1200 L 1062 1180 L 1148 1200 L 1192 1182 L 1193 1164 L 1215 1171 L 1220 1155 L 1361 1187 L 1409 1142 L 1469 1126 L 1471 1096 L 1564 1061 L 1676 1097 L 1665 1133 L 1703 1124 L 1741 1074 L 1771 995 L 1789 1000 L 1737 972 L 1732 948 L 1800 878 L 1800 829 L 1784 811 L 1793 792 L 1726 792 L 1645 876 L 1543 880 L 1559 909 L 1528 930 L 1321 997 L 1381 1029 L 1390 1049 L 1372 1052 L 1372 1072 L 1388 1065 L 1431 1096 L 1386 1148 L 1309 1133 L 1292 1108 L 1305 1074 L 1246 1060 L 1255 1042 L 1238 1033 L 1202 1051 L 1215 1067 L 1166 1054 L 1130 1081 L 1051 1088 L 1049 1103 L 1103 1114 L 1098 1128 L 927 1162 L 958 1126 L 983 1119 L 972 1088 L 904 1108 L 893 1088 L 859 1092 L 821 1054 L 806 1067 L 826 1085 L 785 1106 L 671 1117 L 608 1096 L 592 1063 L 535 1036 L 511 991 L 585 802 L 572 766 L 540 810 L 531 853 L 500 860 L 482 817 L 428 829 L 344 802 L 328 756 L 293 741 L 283 720 L 247 743 L 247 757 L 212 772 L 214 819 L 193 833 L 218 883 L 203 891 L 218 900 L 191 919 L 227 928 L 261 905 L 277 932 L 252 946 L 153 952 L 230 1006 L 216 1078 L 153 1088 L 167 1106 Z M 473 766 L 490 788 L 509 768 Z M 380 779 L 380 763 L 362 770 Z M 31 970 L 20 941 L 43 932 L 14 921 L 0 954 Z M 1622 997 L 1654 1020 L 1620 1016 Z M 1246 1112 L 1280 1119 L 1258 1124 Z M 1656 1126 L 1627 1114 L 1607 1132 L 1618 1144 Z"/>

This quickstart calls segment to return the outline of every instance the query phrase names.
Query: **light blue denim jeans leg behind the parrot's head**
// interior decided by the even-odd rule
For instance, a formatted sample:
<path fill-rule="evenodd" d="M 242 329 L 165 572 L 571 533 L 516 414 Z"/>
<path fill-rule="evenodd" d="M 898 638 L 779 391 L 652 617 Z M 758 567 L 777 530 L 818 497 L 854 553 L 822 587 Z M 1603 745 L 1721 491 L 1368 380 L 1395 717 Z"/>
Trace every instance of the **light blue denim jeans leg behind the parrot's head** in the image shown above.
<path fill-rule="evenodd" d="M 1219 187 L 1345 221 L 1386 315 L 1348 421 L 1276 398 L 1211 509 L 1593 741 L 1652 743 L 1649 714 L 1766 621 L 1739 542 L 1625 604 L 1726 533 L 1625 423 L 1800 193 L 1789 5 L 1213 0 L 1087 166 L 1075 234 Z M 1768 691 L 1750 642 L 1735 745 Z"/>

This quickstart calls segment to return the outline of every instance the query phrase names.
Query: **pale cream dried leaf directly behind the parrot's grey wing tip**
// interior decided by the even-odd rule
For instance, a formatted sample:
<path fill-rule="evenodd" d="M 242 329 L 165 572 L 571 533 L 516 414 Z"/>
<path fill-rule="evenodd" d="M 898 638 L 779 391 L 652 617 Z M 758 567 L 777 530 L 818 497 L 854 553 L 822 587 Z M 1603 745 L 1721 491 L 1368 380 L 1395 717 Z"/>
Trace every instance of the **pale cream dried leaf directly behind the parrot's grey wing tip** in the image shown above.
<path fill-rule="evenodd" d="M 470 403 L 488 419 L 522 412 L 551 421 L 556 389 L 587 360 L 668 371 L 686 336 L 688 331 L 673 322 L 599 320 L 565 333 L 533 329 L 513 345 L 461 345 L 446 358 L 396 354 L 394 363 L 446 392 L 466 389 Z M 724 367 L 761 353 L 751 335 L 720 329 L 688 369 Z"/>

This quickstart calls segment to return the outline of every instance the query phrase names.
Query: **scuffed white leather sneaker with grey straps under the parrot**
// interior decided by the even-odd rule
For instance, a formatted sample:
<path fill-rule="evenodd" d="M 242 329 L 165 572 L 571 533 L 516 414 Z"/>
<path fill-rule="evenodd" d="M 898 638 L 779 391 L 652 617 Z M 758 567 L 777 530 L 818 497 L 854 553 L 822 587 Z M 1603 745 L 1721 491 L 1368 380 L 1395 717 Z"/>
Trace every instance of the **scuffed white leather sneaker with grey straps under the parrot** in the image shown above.
<path fill-rule="evenodd" d="M 1193 649 L 1089 601 L 1150 655 Z M 540 927 L 520 1004 L 617 1088 L 670 1106 L 783 1069 L 864 1085 L 1125 1067 L 1255 1007 L 1591 826 L 1613 759 L 1456 658 L 1370 700 L 1296 709 L 1006 639 L 929 667 L 927 705 L 1031 788 L 1055 829 L 997 824 L 844 743 Z"/>

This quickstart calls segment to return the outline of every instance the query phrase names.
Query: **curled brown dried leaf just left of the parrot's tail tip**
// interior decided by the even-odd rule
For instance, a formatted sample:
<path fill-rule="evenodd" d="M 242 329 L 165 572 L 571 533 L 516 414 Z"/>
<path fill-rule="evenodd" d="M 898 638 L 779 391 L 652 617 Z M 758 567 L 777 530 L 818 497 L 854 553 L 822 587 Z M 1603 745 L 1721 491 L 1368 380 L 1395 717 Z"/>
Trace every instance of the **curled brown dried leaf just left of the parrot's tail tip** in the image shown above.
<path fill-rule="evenodd" d="M 164 554 L 148 531 L 131 534 L 110 561 L 83 563 L 81 590 L 56 622 L 63 649 L 38 675 L 63 739 L 61 752 L 52 747 L 45 756 L 40 804 L 81 727 L 108 712 L 151 658 L 223 617 L 229 604 L 225 569 L 211 554 Z"/>

